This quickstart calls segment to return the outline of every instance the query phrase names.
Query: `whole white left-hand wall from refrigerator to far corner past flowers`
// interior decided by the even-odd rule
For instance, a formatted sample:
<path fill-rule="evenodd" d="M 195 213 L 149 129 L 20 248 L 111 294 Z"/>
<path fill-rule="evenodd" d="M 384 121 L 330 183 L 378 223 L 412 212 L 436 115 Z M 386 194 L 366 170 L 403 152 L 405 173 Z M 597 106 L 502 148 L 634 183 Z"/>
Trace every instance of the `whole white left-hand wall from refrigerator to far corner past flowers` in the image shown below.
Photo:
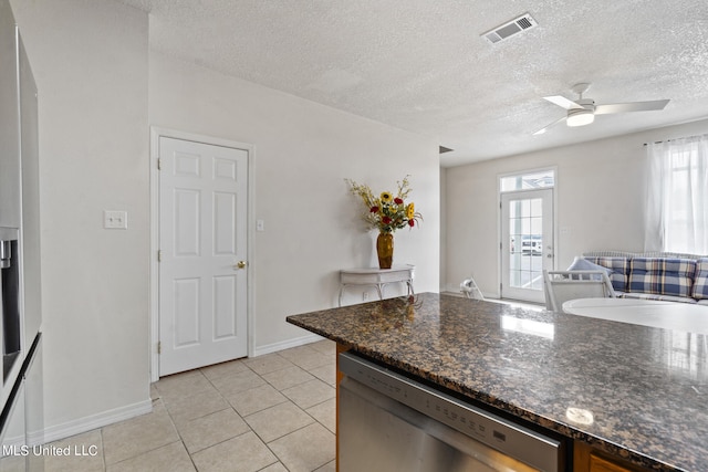
<path fill-rule="evenodd" d="M 40 90 L 48 439 L 150 408 L 149 125 L 254 145 L 257 350 L 308 336 L 285 316 L 334 306 L 339 269 L 375 263 L 345 177 L 412 176 L 425 222 L 395 258 L 438 290 L 437 143 L 148 55 L 147 15 L 114 1 L 11 3 Z M 128 230 L 104 230 L 104 209 Z"/>

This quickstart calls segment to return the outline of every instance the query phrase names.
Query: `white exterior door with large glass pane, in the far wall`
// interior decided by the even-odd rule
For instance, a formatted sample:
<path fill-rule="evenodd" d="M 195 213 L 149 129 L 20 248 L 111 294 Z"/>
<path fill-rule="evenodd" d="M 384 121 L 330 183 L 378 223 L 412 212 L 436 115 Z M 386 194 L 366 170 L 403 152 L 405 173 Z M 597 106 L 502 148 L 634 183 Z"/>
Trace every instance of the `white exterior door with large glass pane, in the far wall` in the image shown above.
<path fill-rule="evenodd" d="M 501 296 L 543 303 L 553 270 L 553 190 L 501 193 Z"/>

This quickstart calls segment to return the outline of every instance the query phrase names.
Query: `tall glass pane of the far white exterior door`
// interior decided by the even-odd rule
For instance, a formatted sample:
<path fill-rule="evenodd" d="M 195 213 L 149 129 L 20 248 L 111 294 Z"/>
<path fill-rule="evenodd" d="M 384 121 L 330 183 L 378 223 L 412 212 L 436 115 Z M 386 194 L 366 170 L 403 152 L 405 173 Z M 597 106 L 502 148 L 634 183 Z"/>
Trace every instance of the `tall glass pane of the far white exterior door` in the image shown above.
<path fill-rule="evenodd" d="M 509 201 L 509 273 L 511 287 L 543 289 L 543 206 L 541 198 Z"/>

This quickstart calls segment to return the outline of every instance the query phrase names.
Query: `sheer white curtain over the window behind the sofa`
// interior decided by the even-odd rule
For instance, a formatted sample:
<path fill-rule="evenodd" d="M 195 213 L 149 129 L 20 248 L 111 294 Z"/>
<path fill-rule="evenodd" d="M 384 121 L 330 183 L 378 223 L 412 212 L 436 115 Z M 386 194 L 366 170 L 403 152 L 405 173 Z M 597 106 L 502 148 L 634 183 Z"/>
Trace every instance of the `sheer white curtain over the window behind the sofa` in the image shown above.
<path fill-rule="evenodd" d="M 645 251 L 708 254 L 708 135 L 646 148 Z"/>

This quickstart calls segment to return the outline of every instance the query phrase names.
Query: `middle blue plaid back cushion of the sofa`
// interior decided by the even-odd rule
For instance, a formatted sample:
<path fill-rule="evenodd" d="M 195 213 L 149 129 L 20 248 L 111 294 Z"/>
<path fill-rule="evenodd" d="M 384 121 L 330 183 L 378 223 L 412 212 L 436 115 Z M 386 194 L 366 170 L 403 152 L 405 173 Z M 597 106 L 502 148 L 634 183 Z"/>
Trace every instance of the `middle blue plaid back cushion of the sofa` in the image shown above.
<path fill-rule="evenodd" d="M 633 258 L 627 292 L 690 296 L 696 261 L 688 259 Z"/>

